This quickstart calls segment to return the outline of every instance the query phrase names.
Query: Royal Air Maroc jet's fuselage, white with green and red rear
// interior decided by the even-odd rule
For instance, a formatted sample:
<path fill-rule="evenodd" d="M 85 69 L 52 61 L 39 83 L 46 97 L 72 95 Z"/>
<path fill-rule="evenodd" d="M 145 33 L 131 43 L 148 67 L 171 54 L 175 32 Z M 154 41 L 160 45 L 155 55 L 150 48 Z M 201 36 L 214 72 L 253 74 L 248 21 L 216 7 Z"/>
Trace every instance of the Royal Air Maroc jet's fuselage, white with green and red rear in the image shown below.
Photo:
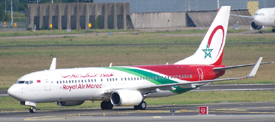
<path fill-rule="evenodd" d="M 108 100 L 109 89 L 136 88 L 215 79 L 224 71 L 214 72 L 211 65 L 147 65 L 44 70 L 27 74 L 9 91 L 19 101 L 62 102 Z M 221 66 L 219 66 L 221 67 Z M 172 87 L 165 96 L 183 93 L 196 87 Z M 145 94 L 151 91 L 144 91 Z M 148 97 L 159 96 L 154 92 Z M 35 96 L 35 97 L 34 97 Z"/>

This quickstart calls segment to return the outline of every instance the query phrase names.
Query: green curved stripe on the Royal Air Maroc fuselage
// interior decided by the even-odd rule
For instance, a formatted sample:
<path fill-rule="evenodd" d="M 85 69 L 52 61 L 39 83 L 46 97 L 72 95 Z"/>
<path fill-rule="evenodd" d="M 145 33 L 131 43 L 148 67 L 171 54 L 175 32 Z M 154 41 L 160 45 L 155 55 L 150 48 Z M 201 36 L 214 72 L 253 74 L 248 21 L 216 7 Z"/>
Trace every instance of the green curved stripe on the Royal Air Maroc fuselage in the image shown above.
<path fill-rule="evenodd" d="M 152 72 L 140 70 L 140 69 L 133 69 L 133 68 L 127 68 L 127 67 L 108 67 L 108 69 L 114 69 L 114 70 L 127 72 L 130 74 L 136 75 L 138 77 L 144 77 L 144 78 L 148 77 L 147 80 L 156 84 L 156 85 L 178 83 L 171 79 L 165 79 L 165 78 L 162 78 L 160 75 L 154 74 Z"/>

